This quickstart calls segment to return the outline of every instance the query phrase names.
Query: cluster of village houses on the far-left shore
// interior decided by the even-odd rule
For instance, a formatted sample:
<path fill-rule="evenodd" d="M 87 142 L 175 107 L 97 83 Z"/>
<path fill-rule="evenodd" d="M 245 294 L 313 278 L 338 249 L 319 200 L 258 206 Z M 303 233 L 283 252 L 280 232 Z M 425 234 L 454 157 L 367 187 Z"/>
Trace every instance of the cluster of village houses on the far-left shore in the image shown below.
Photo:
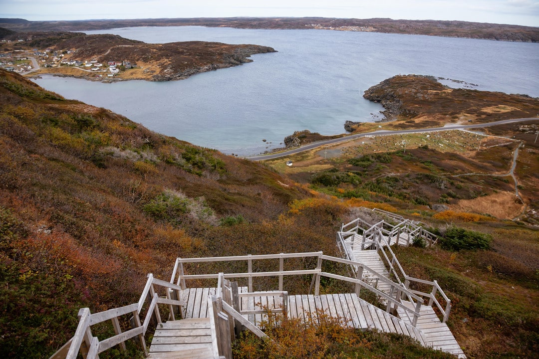
<path fill-rule="evenodd" d="M 3 45 L 19 45 L 18 48 L 23 48 L 26 41 L 29 39 L 18 40 L 1 40 L 0 44 Z M 0 50 L 2 51 L 2 50 Z M 28 74 L 34 71 L 38 71 L 42 68 L 58 68 L 58 67 L 76 67 L 81 71 L 95 72 L 96 78 L 113 78 L 119 74 L 120 71 L 125 71 L 134 67 L 130 61 L 126 60 L 113 60 L 105 62 L 99 62 L 96 59 L 87 59 L 85 61 L 75 58 L 76 49 L 70 50 L 54 50 L 52 48 L 46 48 L 45 50 L 39 50 L 37 48 L 28 50 L 10 50 L 2 51 L 0 53 L 0 68 L 6 71 L 16 72 L 18 74 Z"/>

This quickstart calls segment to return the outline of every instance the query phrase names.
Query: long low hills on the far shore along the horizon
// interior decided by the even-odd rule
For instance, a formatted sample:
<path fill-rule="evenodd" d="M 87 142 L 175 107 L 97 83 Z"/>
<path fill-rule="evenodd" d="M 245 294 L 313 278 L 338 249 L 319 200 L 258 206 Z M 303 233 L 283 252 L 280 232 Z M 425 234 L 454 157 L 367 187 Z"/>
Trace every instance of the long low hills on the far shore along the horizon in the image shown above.
<path fill-rule="evenodd" d="M 0 27 L 15 31 L 86 31 L 133 26 L 211 26 L 237 29 L 324 29 L 419 34 L 502 41 L 539 42 L 539 29 L 531 26 L 441 20 L 342 19 L 321 17 L 269 18 L 163 18 L 77 21 L 0 19 Z"/>

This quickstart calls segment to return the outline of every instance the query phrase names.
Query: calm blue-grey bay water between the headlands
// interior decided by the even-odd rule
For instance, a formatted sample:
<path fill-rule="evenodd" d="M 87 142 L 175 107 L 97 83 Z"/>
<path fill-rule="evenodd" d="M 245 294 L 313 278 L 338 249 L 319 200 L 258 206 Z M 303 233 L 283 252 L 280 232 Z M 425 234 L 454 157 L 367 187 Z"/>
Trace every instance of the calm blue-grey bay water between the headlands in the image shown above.
<path fill-rule="evenodd" d="M 92 82 L 43 76 L 40 86 L 104 107 L 147 128 L 241 156 L 282 146 L 297 130 L 344 132 L 375 121 L 381 105 L 363 91 L 398 74 L 446 85 L 539 97 L 539 44 L 329 30 L 132 27 L 113 33 L 146 43 L 203 40 L 271 46 L 254 62 L 181 81 Z M 263 141 L 263 140 L 266 141 Z"/>

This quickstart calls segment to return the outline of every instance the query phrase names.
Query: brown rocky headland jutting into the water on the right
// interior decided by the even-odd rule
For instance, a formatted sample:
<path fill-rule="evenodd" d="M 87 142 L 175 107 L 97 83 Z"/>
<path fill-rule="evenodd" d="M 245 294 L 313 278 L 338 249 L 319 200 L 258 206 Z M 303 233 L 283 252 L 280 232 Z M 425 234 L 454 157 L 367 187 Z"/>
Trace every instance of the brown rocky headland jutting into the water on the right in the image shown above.
<path fill-rule="evenodd" d="M 539 98 L 528 95 L 450 88 L 433 76 L 398 75 L 367 89 L 363 95 L 384 107 L 392 128 L 443 126 L 457 122 L 492 122 L 535 117 Z"/>

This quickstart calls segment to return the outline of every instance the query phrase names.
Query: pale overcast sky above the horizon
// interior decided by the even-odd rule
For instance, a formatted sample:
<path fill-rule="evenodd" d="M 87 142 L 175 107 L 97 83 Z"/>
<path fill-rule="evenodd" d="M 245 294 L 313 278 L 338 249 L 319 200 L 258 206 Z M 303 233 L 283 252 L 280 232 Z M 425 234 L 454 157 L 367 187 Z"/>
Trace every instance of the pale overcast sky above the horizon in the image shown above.
<path fill-rule="evenodd" d="M 27 20 L 233 16 L 385 17 L 539 26 L 539 0 L 0 0 L 0 17 Z"/>

